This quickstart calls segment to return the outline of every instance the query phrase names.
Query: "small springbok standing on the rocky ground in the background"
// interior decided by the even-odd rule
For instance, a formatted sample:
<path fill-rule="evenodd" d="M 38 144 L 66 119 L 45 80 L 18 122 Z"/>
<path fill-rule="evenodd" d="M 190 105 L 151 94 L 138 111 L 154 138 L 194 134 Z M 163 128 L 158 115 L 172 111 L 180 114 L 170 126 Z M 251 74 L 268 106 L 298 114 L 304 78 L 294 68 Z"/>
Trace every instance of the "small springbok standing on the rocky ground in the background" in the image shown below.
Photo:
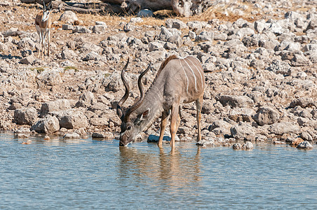
<path fill-rule="evenodd" d="M 36 32 L 39 34 L 40 38 L 40 47 L 39 47 L 39 55 L 42 59 L 44 59 L 45 54 L 45 39 L 48 36 L 48 52 L 47 55 L 50 55 L 50 11 L 52 10 L 52 1 L 48 3 L 48 6 L 45 5 L 43 0 L 43 11 L 36 15 L 35 18 L 35 27 Z"/>

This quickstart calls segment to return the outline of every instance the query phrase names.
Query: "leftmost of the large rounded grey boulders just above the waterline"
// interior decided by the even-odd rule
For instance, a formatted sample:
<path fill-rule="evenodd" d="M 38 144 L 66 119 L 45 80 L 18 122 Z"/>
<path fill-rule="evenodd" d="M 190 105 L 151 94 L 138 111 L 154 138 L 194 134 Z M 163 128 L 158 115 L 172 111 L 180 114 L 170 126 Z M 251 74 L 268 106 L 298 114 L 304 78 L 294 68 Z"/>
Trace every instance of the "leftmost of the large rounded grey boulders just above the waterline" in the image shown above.
<path fill-rule="evenodd" d="M 37 111 L 34 107 L 15 109 L 13 118 L 19 125 L 33 125 L 37 120 Z"/>

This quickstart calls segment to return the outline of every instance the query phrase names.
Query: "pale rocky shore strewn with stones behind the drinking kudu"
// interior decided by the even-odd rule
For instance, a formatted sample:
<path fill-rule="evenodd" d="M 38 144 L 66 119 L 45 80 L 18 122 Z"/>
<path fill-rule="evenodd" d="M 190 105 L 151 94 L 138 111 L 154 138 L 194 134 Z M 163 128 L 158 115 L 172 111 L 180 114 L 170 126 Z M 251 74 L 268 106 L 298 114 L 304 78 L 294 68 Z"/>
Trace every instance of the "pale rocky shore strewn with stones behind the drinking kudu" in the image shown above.
<path fill-rule="evenodd" d="M 115 138 L 128 57 L 129 105 L 149 62 L 145 88 L 168 56 L 194 55 L 206 78 L 201 145 L 243 140 L 311 147 L 317 140 L 317 2 L 228 3 L 217 0 L 205 16 L 192 18 L 53 10 L 51 55 L 44 60 L 37 59 L 33 25 L 39 10 L 18 0 L 0 3 L 0 130 Z M 159 120 L 140 139 L 158 129 Z M 182 105 L 177 136 L 196 140 L 194 104 Z"/>

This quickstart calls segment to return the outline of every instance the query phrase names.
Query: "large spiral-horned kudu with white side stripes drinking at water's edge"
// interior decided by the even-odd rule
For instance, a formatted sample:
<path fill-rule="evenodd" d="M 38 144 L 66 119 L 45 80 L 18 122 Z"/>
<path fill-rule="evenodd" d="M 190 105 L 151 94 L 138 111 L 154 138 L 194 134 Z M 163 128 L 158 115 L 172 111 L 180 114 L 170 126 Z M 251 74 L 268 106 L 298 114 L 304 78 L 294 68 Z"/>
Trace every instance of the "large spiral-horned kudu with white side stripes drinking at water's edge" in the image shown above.
<path fill-rule="evenodd" d="M 197 109 L 197 141 L 201 140 L 201 107 L 203 105 L 203 90 L 205 89 L 205 77 L 201 62 L 196 57 L 168 57 L 158 69 L 156 78 L 144 95 L 142 77 L 151 66 L 151 63 L 143 71 L 137 81 L 140 90 L 140 99 L 126 111 L 122 105 L 128 99 L 130 88 L 124 73 L 128 66 L 124 66 L 121 79 L 126 87 L 126 93 L 119 101 L 116 112 L 121 119 L 120 146 L 128 145 L 137 134 L 147 130 L 154 120 L 161 116 L 161 132 L 158 146 L 162 146 L 163 135 L 166 129 L 168 116 L 170 119 L 170 146 L 175 146 L 175 134 L 180 125 L 180 104 L 196 102 Z"/>

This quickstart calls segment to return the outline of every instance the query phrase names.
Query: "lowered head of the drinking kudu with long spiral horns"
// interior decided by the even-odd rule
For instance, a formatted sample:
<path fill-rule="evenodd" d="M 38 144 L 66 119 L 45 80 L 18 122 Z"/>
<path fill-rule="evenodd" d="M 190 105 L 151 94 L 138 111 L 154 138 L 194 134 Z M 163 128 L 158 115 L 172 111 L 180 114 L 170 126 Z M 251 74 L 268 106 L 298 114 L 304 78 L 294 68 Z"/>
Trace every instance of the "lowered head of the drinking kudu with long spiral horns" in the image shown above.
<path fill-rule="evenodd" d="M 120 146 L 127 146 L 137 134 L 139 134 L 142 130 L 141 123 L 143 120 L 147 119 L 147 116 L 149 114 L 149 109 L 146 111 L 140 113 L 140 114 L 133 114 L 133 112 L 138 109 L 144 100 L 144 90 L 142 85 L 142 77 L 144 76 L 147 71 L 149 71 L 149 67 L 151 66 L 151 63 L 147 67 L 145 71 L 143 71 L 138 80 L 137 85 L 140 90 L 140 99 L 135 102 L 132 106 L 130 106 L 128 109 L 123 109 L 122 105 L 124 102 L 126 102 L 126 99 L 128 99 L 130 87 L 129 84 L 124 76 L 124 73 L 126 71 L 126 68 L 128 67 L 128 62 L 126 63 L 126 66 L 121 71 L 121 79 L 123 81 L 123 85 L 126 87 L 126 93 L 123 95 L 121 100 L 119 101 L 118 105 L 116 106 L 116 113 L 118 114 L 119 118 L 121 119 L 121 132 L 120 132 Z"/>

